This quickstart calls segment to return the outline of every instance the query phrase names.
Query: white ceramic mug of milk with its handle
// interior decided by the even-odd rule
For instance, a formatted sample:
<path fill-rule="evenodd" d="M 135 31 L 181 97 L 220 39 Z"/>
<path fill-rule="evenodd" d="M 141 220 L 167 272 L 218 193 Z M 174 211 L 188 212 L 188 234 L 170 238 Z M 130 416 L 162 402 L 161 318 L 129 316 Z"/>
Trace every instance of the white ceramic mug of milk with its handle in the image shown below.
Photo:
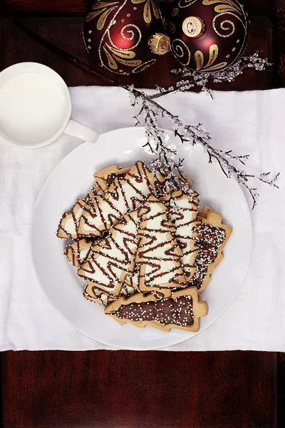
<path fill-rule="evenodd" d="M 46 146 L 63 134 L 95 143 L 99 134 L 71 119 L 71 96 L 61 76 L 40 63 L 17 63 L 0 73 L 0 134 L 21 148 Z"/>

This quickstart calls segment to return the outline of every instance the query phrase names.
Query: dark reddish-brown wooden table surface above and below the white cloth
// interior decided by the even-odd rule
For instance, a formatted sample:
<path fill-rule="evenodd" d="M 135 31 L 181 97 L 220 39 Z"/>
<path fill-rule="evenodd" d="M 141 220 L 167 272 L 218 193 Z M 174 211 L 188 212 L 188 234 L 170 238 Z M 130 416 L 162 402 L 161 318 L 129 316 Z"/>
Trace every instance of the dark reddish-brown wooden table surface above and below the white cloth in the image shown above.
<path fill-rule="evenodd" d="M 247 51 L 274 60 L 267 73 L 247 71 L 223 90 L 284 86 L 285 1 L 244 0 L 252 20 Z M 93 0 L 1 0 L 46 39 L 86 61 L 81 30 Z M 0 68 L 46 63 L 69 86 L 106 84 L 0 22 Z M 165 56 L 126 83 L 169 86 L 177 66 Z M 217 88 L 220 88 L 219 86 Z M 278 360 L 278 369 L 277 369 Z M 4 352 L 5 428 L 273 428 L 285 402 L 284 356 L 267 352 Z M 279 384 L 277 388 L 277 379 Z M 285 426 L 279 412 L 279 427 Z"/>

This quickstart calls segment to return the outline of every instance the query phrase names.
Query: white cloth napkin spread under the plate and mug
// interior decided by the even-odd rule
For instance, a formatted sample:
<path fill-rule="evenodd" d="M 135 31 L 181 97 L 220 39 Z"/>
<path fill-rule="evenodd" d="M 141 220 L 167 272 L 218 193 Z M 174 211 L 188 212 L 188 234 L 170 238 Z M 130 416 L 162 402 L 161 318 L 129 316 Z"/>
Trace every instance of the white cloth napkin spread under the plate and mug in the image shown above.
<path fill-rule="evenodd" d="M 135 110 L 123 89 L 78 87 L 71 88 L 71 96 L 73 118 L 100 133 L 134 124 Z M 237 299 L 214 325 L 169 350 L 285 351 L 285 89 L 214 92 L 214 100 L 205 93 L 177 93 L 163 104 L 190 123 L 202 122 L 215 146 L 249 153 L 248 170 L 281 172 L 280 190 L 259 186 L 252 262 Z M 24 151 L 0 140 L 1 351 L 110 349 L 58 315 L 41 291 L 29 253 L 38 192 L 80 143 L 64 136 L 46 148 Z"/>

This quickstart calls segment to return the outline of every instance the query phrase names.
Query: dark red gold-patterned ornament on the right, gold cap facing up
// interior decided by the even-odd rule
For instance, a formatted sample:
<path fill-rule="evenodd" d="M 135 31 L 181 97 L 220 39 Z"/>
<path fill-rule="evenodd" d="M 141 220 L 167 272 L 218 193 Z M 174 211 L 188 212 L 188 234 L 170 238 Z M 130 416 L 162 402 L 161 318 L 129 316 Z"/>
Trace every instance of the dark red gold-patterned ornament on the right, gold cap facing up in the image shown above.
<path fill-rule="evenodd" d="M 237 0 L 179 0 L 160 9 L 172 53 L 183 66 L 220 71 L 244 51 L 249 21 Z"/>

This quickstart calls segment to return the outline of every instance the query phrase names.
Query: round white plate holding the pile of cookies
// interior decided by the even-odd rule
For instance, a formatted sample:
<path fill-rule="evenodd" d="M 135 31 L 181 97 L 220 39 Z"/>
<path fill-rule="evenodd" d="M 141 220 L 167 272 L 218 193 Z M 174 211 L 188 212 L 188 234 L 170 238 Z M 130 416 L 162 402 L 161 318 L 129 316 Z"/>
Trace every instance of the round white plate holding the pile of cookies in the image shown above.
<path fill-rule="evenodd" d="M 56 230 L 63 212 L 70 210 L 76 198 L 86 195 L 92 187 L 95 171 L 113 164 L 125 167 L 139 160 L 150 161 L 152 157 L 142 149 L 144 132 L 144 128 L 110 131 L 102 134 L 97 143 L 84 143 L 72 151 L 43 186 L 31 226 L 33 265 L 53 307 L 84 335 L 129 350 L 169 347 L 197 333 L 173 329 L 165 333 L 152 327 L 121 326 L 104 315 L 103 307 L 82 296 L 83 281 L 63 255 L 66 241 L 56 237 Z M 170 138 L 177 143 L 171 134 Z M 224 249 L 225 258 L 202 293 L 209 304 L 209 314 L 201 319 L 199 332 L 202 332 L 227 310 L 244 282 L 252 253 L 252 220 L 238 183 L 227 179 L 219 165 L 210 165 L 200 146 L 192 148 L 185 143 L 179 146 L 179 155 L 185 158 L 185 173 L 201 195 L 201 206 L 207 204 L 218 210 L 225 223 L 234 229 Z"/>

